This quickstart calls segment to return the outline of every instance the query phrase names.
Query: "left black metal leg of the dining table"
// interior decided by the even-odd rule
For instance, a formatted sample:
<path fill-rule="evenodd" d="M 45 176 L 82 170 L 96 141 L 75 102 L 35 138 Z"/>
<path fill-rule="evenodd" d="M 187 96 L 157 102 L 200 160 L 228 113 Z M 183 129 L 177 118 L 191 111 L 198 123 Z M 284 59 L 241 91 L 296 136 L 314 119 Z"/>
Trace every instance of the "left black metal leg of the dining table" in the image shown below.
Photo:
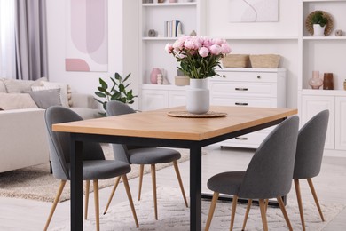
<path fill-rule="evenodd" d="M 83 172 L 81 141 L 71 135 L 71 230 L 83 230 Z"/>

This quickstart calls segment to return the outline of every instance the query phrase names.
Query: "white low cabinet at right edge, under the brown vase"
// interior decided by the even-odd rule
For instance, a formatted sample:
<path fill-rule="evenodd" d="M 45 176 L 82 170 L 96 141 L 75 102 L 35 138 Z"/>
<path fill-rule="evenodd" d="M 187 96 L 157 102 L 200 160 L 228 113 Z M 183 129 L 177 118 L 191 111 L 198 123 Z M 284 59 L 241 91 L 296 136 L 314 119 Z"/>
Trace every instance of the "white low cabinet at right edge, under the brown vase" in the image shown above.
<path fill-rule="evenodd" d="M 322 110 L 329 110 L 328 129 L 326 131 L 326 149 L 346 150 L 346 92 L 328 91 L 324 95 L 315 95 L 318 90 L 303 92 L 301 124 Z M 335 96 L 336 94 L 336 96 Z"/>

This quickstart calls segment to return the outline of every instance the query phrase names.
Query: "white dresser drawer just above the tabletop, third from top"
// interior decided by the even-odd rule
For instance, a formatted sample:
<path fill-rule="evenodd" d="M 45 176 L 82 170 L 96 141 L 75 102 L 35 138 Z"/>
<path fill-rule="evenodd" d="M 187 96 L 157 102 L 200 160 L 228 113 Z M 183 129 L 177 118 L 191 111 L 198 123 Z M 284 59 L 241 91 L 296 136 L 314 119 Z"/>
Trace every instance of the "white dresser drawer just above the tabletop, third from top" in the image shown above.
<path fill-rule="evenodd" d="M 261 107 L 261 108 L 277 108 L 278 100 L 276 98 L 246 98 L 232 97 L 224 98 L 213 96 L 211 104 L 218 106 L 242 106 L 242 107 Z"/>

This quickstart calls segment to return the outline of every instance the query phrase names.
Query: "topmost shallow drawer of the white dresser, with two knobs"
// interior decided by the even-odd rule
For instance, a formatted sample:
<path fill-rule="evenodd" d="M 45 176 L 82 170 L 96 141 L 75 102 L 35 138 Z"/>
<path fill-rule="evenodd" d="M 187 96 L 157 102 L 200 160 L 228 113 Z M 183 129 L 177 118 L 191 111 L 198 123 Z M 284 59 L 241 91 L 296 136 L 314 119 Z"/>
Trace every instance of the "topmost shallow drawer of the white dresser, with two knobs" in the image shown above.
<path fill-rule="evenodd" d="M 214 78 L 215 80 L 226 80 L 234 82 L 251 82 L 251 83 L 277 83 L 278 74 L 271 72 L 232 72 L 218 71 L 222 77 Z"/>

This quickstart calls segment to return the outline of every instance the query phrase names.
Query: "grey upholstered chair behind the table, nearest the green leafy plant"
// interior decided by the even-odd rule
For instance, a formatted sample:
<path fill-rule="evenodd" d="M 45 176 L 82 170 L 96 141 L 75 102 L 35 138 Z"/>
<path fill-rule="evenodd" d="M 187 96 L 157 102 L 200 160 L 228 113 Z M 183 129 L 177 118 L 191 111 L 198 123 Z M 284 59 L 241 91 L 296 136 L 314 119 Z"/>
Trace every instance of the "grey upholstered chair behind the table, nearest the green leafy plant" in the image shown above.
<path fill-rule="evenodd" d="M 124 104 L 120 101 L 110 101 L 106 104 L 106 115 L 107 116 L 119 116 L 123 114 L 135 113 L 136 111 L 130 108 L 127 104 Z M 115 160 L 121 160 L 130 164 L 139 164 L 139 189 L 138 189 L 138 201 L 140 200 L 141 188 L 142 188 L 142 180 L 143 180 L 143 172 L 144 165 L 151 165 L 152 172 L 152 181 L 153 181 L 153 204 L 155 211 L 155 219 L 158 219 L 157 215 L 157 199 L 156 199 L 156 173 L 155 173 L 155 164 L 156 163 L 170 163 L 173 162 L 174 169 L 177 173 L 177 179 L 179 182 L 179 186 L 181 192 L 183 194 L 183 198 L 185 201 L 185 206 L 188 207 L 185 190 L 183 187 L 183 182 L 180 177 L 179 168 L 177 166 L 177 160 L 180 159 L 181 155 L 174 149 L 170 148 L 161 148 L 161 147 L 139 147 L 139 146 L 126 146 L 120 144 L 113 144 L 114 149 L 114 158 Z M 117 187 L 117 183 L 114 184 L 114 190 Z M 111 194 L 109 201 L 106 205 L 106 211 L 108 209 L 109 204 L 112 201 L 113 194 Z"/>

